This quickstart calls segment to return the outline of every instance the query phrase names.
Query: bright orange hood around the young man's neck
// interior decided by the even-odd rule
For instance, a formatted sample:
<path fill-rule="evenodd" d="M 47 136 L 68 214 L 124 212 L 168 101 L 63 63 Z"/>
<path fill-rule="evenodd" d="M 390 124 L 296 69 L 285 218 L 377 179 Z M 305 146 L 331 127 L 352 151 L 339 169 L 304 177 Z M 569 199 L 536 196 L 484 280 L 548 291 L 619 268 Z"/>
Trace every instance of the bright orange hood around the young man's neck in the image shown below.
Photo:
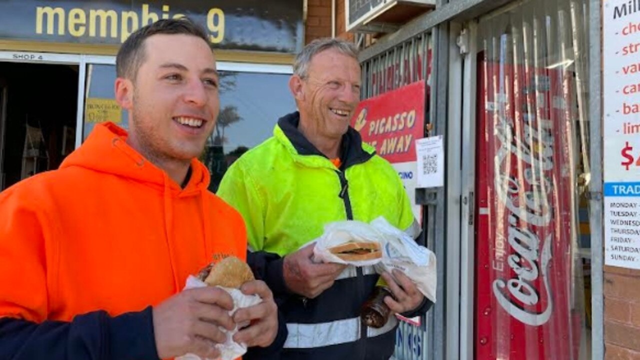
<path fill-rule="evenodd" d="M 191 160 L 191 177 L 182 189 L 164 170 L 129 146 L 126 140 L 127 131 L 112 122 L 97 124 L 81 147 L 65 158 L 60 168 L 83 167 L 126 177 L 160 191 L 170 190 L 172 195 L 196 195 L 207 190 L 211 177 L 197 159 Z"/>

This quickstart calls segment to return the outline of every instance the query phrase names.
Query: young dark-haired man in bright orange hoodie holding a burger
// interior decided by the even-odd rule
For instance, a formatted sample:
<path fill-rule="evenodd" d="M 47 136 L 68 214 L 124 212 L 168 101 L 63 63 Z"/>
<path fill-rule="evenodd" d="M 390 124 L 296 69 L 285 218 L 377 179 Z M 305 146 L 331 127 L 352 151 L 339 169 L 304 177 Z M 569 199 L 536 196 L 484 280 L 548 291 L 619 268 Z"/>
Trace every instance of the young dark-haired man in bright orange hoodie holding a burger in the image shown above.
<path fill-rule="evenodd" d="M 196 160 L 220 109 L 207 36 L 160 20 L 126 40 L 116 69 L 129 132 L 96 126 L 59 170 L 0 193 L 0 357 L 213 358 L 220 328 L 246 320 L 236 341 L 280 347 L 264 282 L 244 284 L 263 301 L 233 318 L 225 291 L 182 291 L 212 259 L 246 256 L 241 216 Z"/>

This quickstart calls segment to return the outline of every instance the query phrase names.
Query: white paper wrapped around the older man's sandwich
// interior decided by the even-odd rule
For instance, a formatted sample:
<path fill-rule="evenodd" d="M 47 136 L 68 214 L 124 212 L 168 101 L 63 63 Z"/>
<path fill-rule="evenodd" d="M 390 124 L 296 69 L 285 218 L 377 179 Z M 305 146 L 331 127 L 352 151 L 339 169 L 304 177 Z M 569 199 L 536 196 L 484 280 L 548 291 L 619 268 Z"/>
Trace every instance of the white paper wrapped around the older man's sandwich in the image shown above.
<path fill-rule="evenodd" d="M 364 261 L 344 261 L 332 254 L 328 249 L 351 241 L 378 242 L 382 245 L 383 234 L 371 225 L 356 220 L 332 222 L 324 226 L 324 233 L 317 238 L 314 247 L 314 261 L 318 263 L 339 263 L 354 266 L 367 266 L 380 263 L 380 258 Z"/>

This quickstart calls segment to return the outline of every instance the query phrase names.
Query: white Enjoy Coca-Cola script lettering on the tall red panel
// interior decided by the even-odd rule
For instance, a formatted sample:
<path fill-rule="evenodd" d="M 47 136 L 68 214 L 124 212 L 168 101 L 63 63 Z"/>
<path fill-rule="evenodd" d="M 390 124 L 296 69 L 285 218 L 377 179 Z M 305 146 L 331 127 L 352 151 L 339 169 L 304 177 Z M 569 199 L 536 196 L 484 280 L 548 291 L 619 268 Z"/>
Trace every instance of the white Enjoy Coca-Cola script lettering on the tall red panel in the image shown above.
<path fill-rule="evenodd" d="M 523 122 L 522 136 L 514 136 L 512 121 L 497 117 L 495 138 L 499 148 L 494 157 L 494 186 L 497 209 L 497 236 L 509 244 L 506 279 L 493 281 L 493 294 L 502 308 L 522 323 L 539 326 L 553 311 L 548 279 L 554 229 L 552 220 L 552 181 L 545 175 L 553 170 L 551 124 L 540 120 Z M 515 161 L 514 161 L 515 160 Z M 540 244 L 540 237 L 543 243 Z M 540 246 L 542 245 L 542 246 Z M 514 274 L 514 275 L 511 275 Z M 542 276 L 542 281 L 538 278 Z M 538 288 L 542 287 L 542 288 Z M 544 294 L 546 299 L 541 299 Z M 545 308 L 534 311 L 542 301 Z"/>

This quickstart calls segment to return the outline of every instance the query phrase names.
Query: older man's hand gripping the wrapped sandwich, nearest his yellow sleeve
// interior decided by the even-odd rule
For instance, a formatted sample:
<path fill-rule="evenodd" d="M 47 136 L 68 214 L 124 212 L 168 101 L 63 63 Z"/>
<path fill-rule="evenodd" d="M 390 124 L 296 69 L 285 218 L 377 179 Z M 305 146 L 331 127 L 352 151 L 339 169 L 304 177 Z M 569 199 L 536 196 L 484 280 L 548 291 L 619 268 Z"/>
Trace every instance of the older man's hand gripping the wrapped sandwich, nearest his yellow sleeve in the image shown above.
<path fill-rule="evenodd" d="M 296 294 L 313 299 L 333 285 L 346 265 L 314 263 L 314 246 L 310 244 L 284 258 L 283 276 L 287 288 Z"/>

